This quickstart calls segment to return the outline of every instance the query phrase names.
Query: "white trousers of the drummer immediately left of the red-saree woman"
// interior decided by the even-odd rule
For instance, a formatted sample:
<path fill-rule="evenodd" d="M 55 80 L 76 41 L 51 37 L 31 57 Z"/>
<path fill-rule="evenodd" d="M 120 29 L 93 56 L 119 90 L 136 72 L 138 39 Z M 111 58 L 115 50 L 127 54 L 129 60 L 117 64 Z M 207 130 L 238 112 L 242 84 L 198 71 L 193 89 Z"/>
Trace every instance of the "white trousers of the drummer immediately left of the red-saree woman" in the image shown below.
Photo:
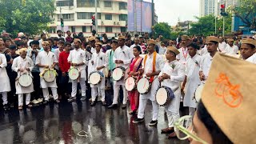
<path fill-rule="evenodd" d="M 126 87 L 124 85 L 115 85 L 115 84 L 114 84 L 114 98 L 113 98 L 112 104 L 118 104 L 118 96 L 119 96 L 120 86 L 122 86 L 122 91 L 123 91 L 122 104 L 126 105 L 127 96 L 128 96 Z"/>

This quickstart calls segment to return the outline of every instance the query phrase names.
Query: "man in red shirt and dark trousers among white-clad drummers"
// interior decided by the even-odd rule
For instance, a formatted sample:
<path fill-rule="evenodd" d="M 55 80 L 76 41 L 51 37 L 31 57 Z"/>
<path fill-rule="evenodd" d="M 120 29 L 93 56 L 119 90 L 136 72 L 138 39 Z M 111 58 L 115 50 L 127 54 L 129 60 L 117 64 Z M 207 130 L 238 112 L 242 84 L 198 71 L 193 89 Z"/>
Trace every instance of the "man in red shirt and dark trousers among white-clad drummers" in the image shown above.
<path fill-rule="evenodd" d="M 68 98 L 71 94 L 71 83 L 69 83 L 69 74 L 70 63 L 67 61 L 67 58 L 70 55 L 71 43 L 66 42 L 64 45 L 64 51 L 59 54 L 58 66 L 62 71 L 60 85 L 62 90 L 60 91 L 61 95 L 66 95 Z"/>

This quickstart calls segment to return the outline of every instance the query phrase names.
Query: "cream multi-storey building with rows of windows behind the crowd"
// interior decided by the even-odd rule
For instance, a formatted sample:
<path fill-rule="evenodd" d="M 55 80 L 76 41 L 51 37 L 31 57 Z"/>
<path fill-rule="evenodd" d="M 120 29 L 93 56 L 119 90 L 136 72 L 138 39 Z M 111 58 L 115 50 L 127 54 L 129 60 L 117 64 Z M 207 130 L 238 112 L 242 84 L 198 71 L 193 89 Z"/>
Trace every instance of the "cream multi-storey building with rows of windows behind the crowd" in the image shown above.
<path fill-rule="evenodd" d="M 82 32 L 89 36 L 93 30 L 92 16 L 95 14 L 94 0 L 56 0 L 56 11 L 52 16 L 49 34 L 56 35 L 64 20 L 64 31 Z M 114 37 L 126 32 L 127 0 L 97 0 L 98 34 Z"/>

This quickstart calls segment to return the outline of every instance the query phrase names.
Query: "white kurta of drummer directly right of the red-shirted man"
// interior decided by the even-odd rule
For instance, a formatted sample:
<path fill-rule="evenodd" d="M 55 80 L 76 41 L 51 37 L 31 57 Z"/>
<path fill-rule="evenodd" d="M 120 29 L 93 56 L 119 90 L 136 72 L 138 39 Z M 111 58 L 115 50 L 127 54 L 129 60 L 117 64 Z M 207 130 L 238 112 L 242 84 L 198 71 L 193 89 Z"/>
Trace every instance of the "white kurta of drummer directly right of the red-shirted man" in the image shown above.
<path fill-rule="evenodd" d="M 78 70 L 80 70 L 80 77 L 85 78 L 86 80 L 86 65 L 87 65 L 86 52 L 82 49 L 71 50 L 67 60 L 68 62 L 77 63 L 77 64 L 82 62 L 85 63 L 85 65 L 83 66 L 75 66 L 75 67 L 78 68 Z"/>

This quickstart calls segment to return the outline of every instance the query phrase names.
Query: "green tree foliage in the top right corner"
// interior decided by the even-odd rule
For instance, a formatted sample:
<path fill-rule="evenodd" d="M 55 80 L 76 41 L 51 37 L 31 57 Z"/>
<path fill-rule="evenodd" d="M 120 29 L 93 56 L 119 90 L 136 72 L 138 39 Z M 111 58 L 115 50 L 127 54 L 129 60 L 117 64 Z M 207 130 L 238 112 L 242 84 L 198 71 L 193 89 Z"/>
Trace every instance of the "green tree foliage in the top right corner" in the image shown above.
<path fill-rule="evenodd" d="M 238 6 L 231 6 L 230 10 L 250 29 L 256 29 L 256 1 L 241 0 Z"/>

